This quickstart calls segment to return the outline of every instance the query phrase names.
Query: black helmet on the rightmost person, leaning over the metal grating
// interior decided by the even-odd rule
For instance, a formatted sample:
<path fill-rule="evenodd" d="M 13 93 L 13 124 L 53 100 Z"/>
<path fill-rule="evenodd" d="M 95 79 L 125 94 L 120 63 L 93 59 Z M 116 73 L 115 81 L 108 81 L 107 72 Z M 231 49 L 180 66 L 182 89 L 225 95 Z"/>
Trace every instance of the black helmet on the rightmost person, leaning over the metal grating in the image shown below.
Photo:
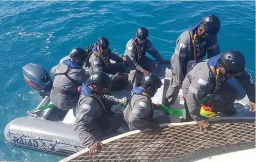
<path fill-rule="evenodd" d="M 245 70 L 245 57 L 237 50 L 224 51 L 218 63 L 223 65 L 229 74 L 238 74 Z"/>

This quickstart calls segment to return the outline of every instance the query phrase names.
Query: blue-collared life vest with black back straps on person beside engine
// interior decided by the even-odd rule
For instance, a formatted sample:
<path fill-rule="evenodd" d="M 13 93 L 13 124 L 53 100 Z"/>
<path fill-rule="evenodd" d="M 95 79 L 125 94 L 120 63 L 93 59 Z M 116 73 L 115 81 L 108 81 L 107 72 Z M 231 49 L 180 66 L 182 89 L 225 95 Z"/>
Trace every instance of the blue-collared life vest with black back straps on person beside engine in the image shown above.
<path fill-rule="evenodd" d="M 78 83 L 76 82 L 73 78 L 71 78 L 68 73 L 69 71 L 71 71 L 71 69 L 82 69 L 82 66 L 78 65 L 77 62 L 73 62 L 70 59 L 67 60 L 63 60 L 62 62 L 64 65 L 68 66 L 68 69 L 66 69 L 65 72 L 60 72 L 55 74 L 55 76 L 58 75 L 65 75 L 72 83 L 74 83 L 75 85 L 77 85 L 78 87 L 81 86 L 83 83 Z M 79 96 L 80 92 L 77 91 L 77 93 L 74 93 L 72 91 L 67 91 L 67 90 L 61 90 L 60 88 L 57 87 L 52 87 L 52 90 L 58 93 L 62 93 L 62 94 L 66 94 L 66 95 L 71 95 L 71 96 Z"/>

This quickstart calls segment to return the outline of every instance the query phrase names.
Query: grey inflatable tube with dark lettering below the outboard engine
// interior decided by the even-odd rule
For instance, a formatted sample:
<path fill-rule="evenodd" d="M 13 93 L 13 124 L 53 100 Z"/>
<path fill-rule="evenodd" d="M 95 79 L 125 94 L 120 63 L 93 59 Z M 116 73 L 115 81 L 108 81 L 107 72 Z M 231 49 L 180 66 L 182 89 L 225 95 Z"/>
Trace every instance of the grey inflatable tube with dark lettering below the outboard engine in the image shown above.
<path fill-rule="evenodd" d="M 12 145 L 68 156 L 84 149 L 74 126 L 33 117 L 16 118 L 7 124 L 5 139 Z"/>

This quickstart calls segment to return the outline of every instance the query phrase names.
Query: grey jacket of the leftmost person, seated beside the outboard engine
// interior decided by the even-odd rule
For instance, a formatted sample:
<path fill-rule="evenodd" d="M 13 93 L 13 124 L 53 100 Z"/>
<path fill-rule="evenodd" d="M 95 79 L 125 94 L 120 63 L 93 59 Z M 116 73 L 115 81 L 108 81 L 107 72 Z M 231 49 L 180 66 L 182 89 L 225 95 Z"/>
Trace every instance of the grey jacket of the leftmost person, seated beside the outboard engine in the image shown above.
<path fill-rule="evenodd" d="M 64 65 L 63 63 L 59 63 L 58 65 L 51 68 L 51 74 L 55 75 L 57 73 L 63 73 L 66 72 L 67 69 L 68 66 Z M 89 78 L 89 74 L 84 68 L 71 69 L 71 71 L 68 72 L 68 75 L 78 84 L 86 82 L 86 80 Z M 59 88 L 60 90 L 76 93 L 78 85 L 75 85 L 73 82 L 71 82 L 65 75 L 57 75 L 54 78 L 53 87 Z M 70 98 L 69 95 L 66 95 L 66 97 Z"/>

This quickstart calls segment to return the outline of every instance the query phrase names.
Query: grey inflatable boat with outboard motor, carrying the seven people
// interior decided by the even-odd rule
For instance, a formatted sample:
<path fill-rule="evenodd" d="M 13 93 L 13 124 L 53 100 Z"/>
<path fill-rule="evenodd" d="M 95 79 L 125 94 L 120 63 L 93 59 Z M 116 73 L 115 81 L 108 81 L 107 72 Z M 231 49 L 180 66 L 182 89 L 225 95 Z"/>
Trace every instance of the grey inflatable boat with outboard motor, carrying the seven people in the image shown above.
<path fill-rule="evenodd" d="M 68 56 L 62 60 L 67 58 Z M 29 63 L 23 66 L 23 75 L 26 83 L 39 92 L 42 100 L 35 109 L 28 111 L 25 117 L 16 118 L 7 124 L 4 130 L 5 139 L 14 146 L 65 157 L 85 149 L 74 132 L 75 117 L 72 109 L 60 111 L 50 101 L 49 93 L 53 81 L 48 72 L 40 65 Z M 159 63 L 157 75 L 161 78 L 163 85 L 152 100 L 153 103 L 162 104 L 169 80 L 172 77 L 170 65 Z M 124 77 L 128 77 L 128 75 L 124 74 Z M 240 90 L 242 90 L 241 85 L 235 80 L 233 83 L 231 81 L 231 84 L 236 84 L 235 87 L 240 86 Z M 112 91 L 110 98 L 122 101 L 124 97 L 129 97 L 129 95 L 130 91 Z M 240 108 L 246 108 L 248 103 L 249 100 L 246 96 L 240 97 L 236 101 L 236 105 Z M 181 117 L 175 112 L 182 111 L 182 109 L 184 109 L 184 100 L 182 99 L 182 91 L 179 91 L 179 96 L 172 105 L 172 112 L 174 113 L 169 115 L 172 123 L 180 122 Z M 158 111 L 154 115 L 160 113 L 163 112 Z M 112 136 L 116 135 L 109 135 L 104 139 Z"/>

